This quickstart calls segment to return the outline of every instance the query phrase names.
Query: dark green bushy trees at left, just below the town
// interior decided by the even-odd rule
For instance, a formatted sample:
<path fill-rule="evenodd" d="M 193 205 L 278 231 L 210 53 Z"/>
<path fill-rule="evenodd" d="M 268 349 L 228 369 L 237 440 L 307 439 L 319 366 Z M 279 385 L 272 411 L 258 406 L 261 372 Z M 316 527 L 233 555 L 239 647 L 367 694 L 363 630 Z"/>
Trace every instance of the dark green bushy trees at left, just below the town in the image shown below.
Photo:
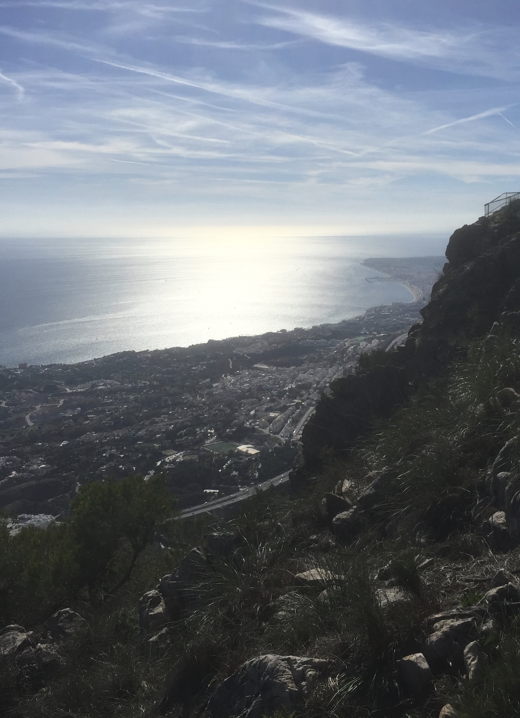
<path fill-rule="evenodd" d="M 45 620 L 83 589 L 91 599 L 129 581 L 136 561 L 173 503 L 162 477 L 80 489 L 68 521 L 22 528 L 9 536 L 0 523 L 0 618 L 3 623 Z M 112 585 L 113 582 L 116 585 Z"/>

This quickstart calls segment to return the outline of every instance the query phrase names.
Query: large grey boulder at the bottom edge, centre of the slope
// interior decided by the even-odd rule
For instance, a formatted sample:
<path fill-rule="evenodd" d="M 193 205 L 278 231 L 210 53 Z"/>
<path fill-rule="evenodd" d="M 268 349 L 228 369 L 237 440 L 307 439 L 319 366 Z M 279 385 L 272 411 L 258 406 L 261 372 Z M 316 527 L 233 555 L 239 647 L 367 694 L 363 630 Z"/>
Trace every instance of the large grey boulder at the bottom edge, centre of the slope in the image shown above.
<path fill-rule="evenodd" d="M 263 718 L 294 712 L 328 661 L 299 656 L 259 656 L 223 681 L 208 701 L 211 718 Z"/>

